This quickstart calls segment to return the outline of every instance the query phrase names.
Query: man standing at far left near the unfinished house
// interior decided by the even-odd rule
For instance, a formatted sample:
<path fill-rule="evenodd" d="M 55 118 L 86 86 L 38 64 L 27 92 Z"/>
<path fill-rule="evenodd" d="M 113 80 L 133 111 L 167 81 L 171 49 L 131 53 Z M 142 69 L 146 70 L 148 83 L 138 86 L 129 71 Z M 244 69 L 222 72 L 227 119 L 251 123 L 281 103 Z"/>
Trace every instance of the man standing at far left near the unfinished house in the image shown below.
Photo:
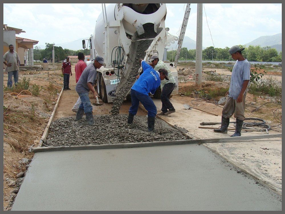
<path fill-rule="evenodd" d="M 7 63 L 5 61 L 7 61 Z M 20 67 L 20 58 L 18 53 L 14 51 L 13 45 L 9 45 L 9 51 L 7 51 L 3 56 L 3 63 L 7 66 L 5 69 L 8 72 L 7 86 L 12 87 L 13 76 L 14 76 L 15 85 L 18 82 L 19 67 Z"/>

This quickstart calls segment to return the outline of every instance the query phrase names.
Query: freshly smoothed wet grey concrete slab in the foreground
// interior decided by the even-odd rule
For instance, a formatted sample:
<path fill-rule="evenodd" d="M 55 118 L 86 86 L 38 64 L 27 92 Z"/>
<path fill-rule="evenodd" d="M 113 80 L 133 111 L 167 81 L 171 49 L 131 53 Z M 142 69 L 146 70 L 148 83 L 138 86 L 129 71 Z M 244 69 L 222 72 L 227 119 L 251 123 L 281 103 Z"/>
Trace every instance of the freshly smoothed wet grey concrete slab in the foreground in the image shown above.
<path fill-rule="evenodd" d="M 202 145 L 39 152 L 12 211 L 281 210 L 281 197 Z"/>

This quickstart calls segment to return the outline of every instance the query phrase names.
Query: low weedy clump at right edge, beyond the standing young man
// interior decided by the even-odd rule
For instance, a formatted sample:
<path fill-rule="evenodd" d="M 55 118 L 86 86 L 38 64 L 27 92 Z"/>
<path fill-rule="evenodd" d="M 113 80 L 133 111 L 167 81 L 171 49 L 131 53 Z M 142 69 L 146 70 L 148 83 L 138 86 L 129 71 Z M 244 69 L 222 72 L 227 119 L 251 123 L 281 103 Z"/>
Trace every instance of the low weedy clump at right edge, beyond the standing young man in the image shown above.
<path fill-rule="evenodd" d="M 261 79 L 249 85 L 249 93 L 254 95 L 266 95 L 282 97 L 282 83 L 272 76 Z"/>

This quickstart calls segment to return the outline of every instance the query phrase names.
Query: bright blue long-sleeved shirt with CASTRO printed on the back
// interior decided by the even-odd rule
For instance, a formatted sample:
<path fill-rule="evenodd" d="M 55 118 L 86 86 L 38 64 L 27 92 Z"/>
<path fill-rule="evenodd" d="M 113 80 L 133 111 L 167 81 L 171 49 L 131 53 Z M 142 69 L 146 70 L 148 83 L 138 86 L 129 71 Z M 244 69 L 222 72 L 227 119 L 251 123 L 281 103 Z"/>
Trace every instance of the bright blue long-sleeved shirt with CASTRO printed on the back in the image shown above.
<path fill-rule="evenodd" d="M 160 86 L 159 72 L 155 71 L 152 66 L 147 64 L 144 60 L 141 62 L 141 65 L 143 73 L 131 89 L 145 95 L 148 95 L 148 93 L 154 94 L 156 89 Z"/>

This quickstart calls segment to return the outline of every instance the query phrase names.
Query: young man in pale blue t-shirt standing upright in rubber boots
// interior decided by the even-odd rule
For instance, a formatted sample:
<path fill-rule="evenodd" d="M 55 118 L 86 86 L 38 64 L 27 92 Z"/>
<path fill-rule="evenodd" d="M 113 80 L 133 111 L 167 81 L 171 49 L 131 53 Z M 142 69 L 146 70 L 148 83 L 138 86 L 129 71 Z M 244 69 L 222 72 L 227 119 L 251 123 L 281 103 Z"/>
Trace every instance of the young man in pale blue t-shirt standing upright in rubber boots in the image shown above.
<path fill-rule="evenodd" d="M 214 129 L 214 132 L 226 134 L 230 117 L 235 114 L 235 133 L 232 134 L 231 137 L 241 136 L 243 120 L 245 119 L 245 96 L 250 80 L 250 64 L 241 53 L 244 49 L 245 48 L 240 48 L 237 45 L 229 49 L 229 54 L 236 62 L 233 66 L 230 88 L 226 93 L 226 96 L 228 96 L 222 111 L 221 128 Z"/>

